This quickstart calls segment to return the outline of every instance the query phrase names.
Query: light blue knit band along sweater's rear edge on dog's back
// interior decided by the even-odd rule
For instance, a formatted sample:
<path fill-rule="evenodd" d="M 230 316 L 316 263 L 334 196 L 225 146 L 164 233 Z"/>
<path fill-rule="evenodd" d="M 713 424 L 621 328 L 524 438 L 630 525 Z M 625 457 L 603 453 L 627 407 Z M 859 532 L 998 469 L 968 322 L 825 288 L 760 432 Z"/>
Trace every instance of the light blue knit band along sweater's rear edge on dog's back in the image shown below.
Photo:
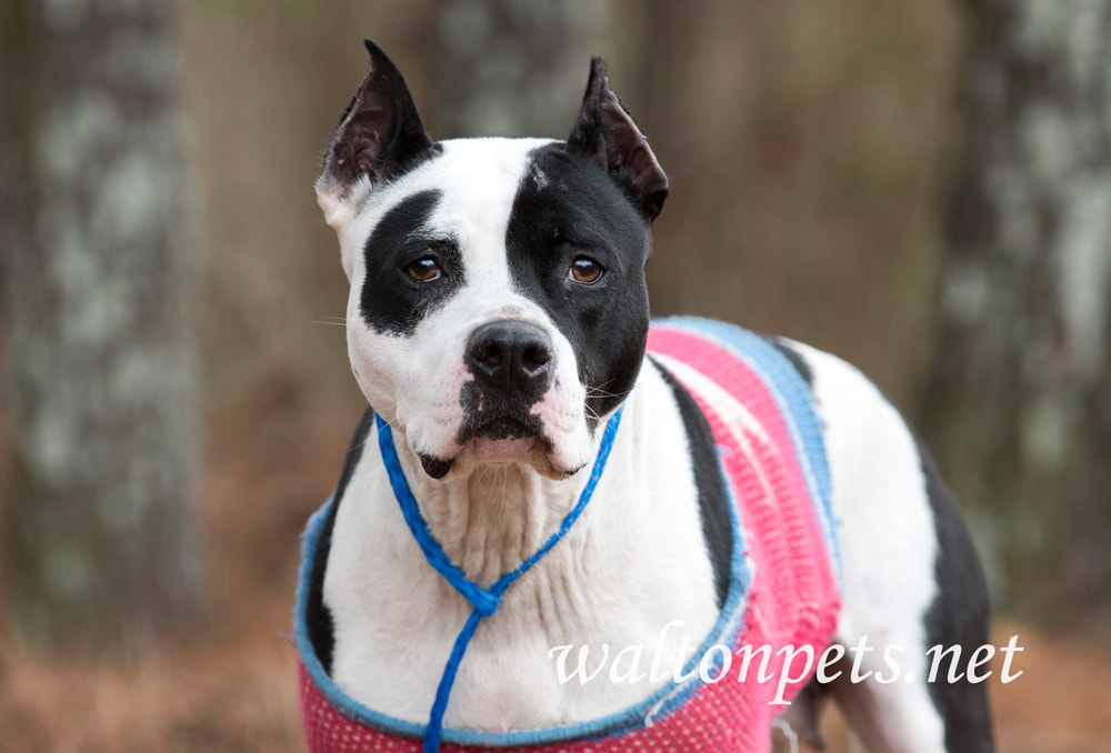
<path fill-rule="evenodd" d="M 833 563 L 838 585 L 843 591 L 841 548 L 837 535 L 841 521 L 833 512 L 825 440 L 810 385 L 774 345 L 754 332 L 701 317 L 669 317 L 657 320 L 655 323 L 697 334 L 714 343 L 741 360 L 763 381 L 779 406 L 794 444 L 822 539 L 825 541 L 825 551 Z"/>

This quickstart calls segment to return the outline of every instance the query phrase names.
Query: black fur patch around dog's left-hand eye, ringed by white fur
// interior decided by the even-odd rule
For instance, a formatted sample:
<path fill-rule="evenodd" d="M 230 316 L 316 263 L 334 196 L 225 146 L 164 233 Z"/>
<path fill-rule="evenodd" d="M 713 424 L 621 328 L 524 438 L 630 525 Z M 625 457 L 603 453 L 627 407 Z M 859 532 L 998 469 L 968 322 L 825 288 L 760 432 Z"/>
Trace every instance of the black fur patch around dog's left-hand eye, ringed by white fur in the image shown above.
<path fill-rule="evenodd" d="M 430 189 L 404 198 L 367 239 L 367 278 L 360 311 L 377 332 L 411 335 L 430 311 L 446 303 L 466 282 L 456 242 L 428 234 L 429 218 L 441 195 Z M 419 282 L 406 272 L 406 267 L 424 257 L 433 257 L 439 263 L 439 279 Z"/>

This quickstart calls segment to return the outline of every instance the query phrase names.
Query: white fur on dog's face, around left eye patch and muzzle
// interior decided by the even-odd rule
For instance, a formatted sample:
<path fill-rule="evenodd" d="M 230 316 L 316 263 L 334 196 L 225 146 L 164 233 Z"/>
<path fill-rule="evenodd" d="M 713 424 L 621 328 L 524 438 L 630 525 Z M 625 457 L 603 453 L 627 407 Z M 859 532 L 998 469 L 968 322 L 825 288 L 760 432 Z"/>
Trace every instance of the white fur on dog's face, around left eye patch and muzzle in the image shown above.
<path fill-rule="evenodd" d="M 506 450 L 457 441 L 464 420 L 463 384 L 473 378 L 463 362 L 469 335 L 498 319 L 534 323 L 551 337 L 551 384 L 532 408 L 543 428 L 547 458 L 521 458 L 557 474 L 589 462 L 594 436 L 588 429 L 585 390 L 574 351 L 540 305 L 514 291 L 506 237 L 518 187 L 539 139 L 464 139 L 441 142 L 441 155 L 370 193 L 341 233 L 343 267 L 351 280 L 348 352 L 359 386 L 370 404 L 414 451 L 438 459 L 489 460 L 486 446 L 504 460 Z M 533 171 L 534 173 L 536 171 Z M 533 180 L 541 177 L 533 174 Z M 546 179 L 544 179 L 546 180 Z M 464 283 L 446 303 L 419 321 L 412 334 L 376 332 L 361 313 L 366 279 L 364 245 L 382 218 L 408 197 L 437 191 L 439 201 L 422 230 L 458 244 Z M 524 445 L 521 445 L 524 446 Z M 466 450 L 466 452 L 464 452 Z M 460 453 L 463 453 L 462 455 Z M 497 458 L 493 458 L 497 459 Z M 547 468 L 548 464 L 552 468 Z"/>

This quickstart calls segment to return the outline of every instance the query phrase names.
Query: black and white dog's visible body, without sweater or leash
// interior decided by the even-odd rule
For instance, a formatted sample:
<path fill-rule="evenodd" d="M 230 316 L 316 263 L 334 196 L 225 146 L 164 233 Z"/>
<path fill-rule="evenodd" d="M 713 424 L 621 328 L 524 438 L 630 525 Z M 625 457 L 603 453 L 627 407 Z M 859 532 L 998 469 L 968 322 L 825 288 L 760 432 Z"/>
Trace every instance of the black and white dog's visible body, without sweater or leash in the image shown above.
<path fill-rule="evenodd" d="M 692 458 L 705 442 L 645 359 L 644 267 L 668 179 L 598 60 L 567 141 L 433 143 L 398 70 L 367 47 L 371 72 L 317 194 L 351 282 L 352 370 L 451 561 L 490 584 L 534 552 L 623 405 L 593 502 L 474 635 L 446 723 L 521 730 L 618 712 L 651 682 L 561 682 L 552 646 L 643 644 L 645 661 L 670 665 L 722 608 L 712 539 L 728 521 L 700 501 Z M 949 493 L 859 371 L 774 342 L 823 428 L 843 571 L 835 640 L 880 649 L 862 670 L 887 669 L 883 645 L 904 649 L 905 682 L 812 684 L 811 700 L 830 690 L 873 751 L 990 751 L 983 686 L 927 681 L 930 646 L 967 656 L 988 637 L 983 579 Z M 368 412 L 309 563 L 308 632 L 350 697 L 420 722 L 471 605 L 414 543 L 374 434 Z"/>

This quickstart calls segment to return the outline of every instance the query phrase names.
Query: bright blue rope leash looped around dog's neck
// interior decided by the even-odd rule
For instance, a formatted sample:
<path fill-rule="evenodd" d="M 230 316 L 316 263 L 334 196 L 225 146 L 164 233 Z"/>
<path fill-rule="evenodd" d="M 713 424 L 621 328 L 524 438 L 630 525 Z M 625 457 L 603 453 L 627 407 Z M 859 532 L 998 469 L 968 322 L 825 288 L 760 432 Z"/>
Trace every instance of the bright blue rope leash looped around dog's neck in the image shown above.
<path fill-rule="evenodd" d="M 374 420 L 378 423 L 378 446 L 382 452 L 386 472 L 390 476 L 393 495 L 398 499 L 398 504 L 401 506 L 401 514 L 406 519 L 413 539 L 417 540 L 428 563 L 448 581 L 451 588 L 462 594 L 474 606 L 470 616 L 467 618 L 463 629 L 459 631 L 459 635 L 456 637 L 456 644 L 451 649 L 451 656 L 448 659 L 448 664 L 443 667 L 443 675 L 440 677 L 440 684 L 436 689 L 436 702 L 432 704 L 432 711 L 429 714 L 428 726 L 424 727 L 424 753 L 437 753 L 440 750 L 443 712 L 448 707 L 448 699 L 451 695 L 451 686 L 456 682 L 456 673 L 459 671 L 459 664 L 463 661 L 463 653 L 467 652 L 467 646 L 474 636 L 474 631 L 478 630 L 479 622 L 482 621 L 482 618 L 488 618 L 498 610 L 498 605 L 501 604 L 501 595 L 506 593 L 506 589 L 512 585 L 518 578 L 528 572 L 532 565 L 540 561 L 540 558 L 559 543 L 560 539 L 571 530 L 574 521 L 579 519 L 587 503 L 590 502 L 590 498 L 594 494 L 594 488 L 602 478 L 602 471 L 605 470 L 605 461 L 610 456 L 610 450 L 613 449 L 613 438 L 617 436 L 623 410 L 623 408 L 619 408 L 617 413 L 605 424 L 605 432 L 602 434 L 602 442 L 598 449 L 598 458 L 594 460 L 594 466 L 590 471 L 590 479 L 587 480 L 587 485 L 579 495 L 579 501 L 563 519 L 563 522 L 560 523 L 559 530 L 532 556 L 519 564 L 516 570 L 498 579 L 490 589 L 483 589 L 468 579 L 463 571 L 448 558 L 439 542 L 432 536 L 432 532 L 428 528 L 428 522 L 417 506 L 417 498 L 413 496 L 412 491 L 409 489 L 409 482 L 406 481 L 404 471 L 401 470 L 401 461 L 398 460 L 398 452 L 393 446 L 393 434 L 390 432 L 390 425 L 378 413 L 374 414 Z"/>

